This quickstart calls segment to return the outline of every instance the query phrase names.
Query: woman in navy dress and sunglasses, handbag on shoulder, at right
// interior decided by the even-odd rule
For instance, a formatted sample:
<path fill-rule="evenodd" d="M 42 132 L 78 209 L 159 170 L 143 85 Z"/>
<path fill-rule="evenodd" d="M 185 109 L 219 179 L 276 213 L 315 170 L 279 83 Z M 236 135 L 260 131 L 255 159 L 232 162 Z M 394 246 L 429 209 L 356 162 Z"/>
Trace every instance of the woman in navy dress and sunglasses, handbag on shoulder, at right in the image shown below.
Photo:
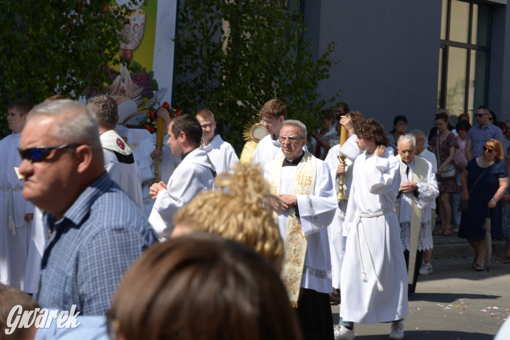
<path fill-rule="evenodd" d="M 477 272 L 483 271 L 485 259 L 485 230 L 483 223 L 491 217 L 491 236 L 501 239 L 501 198 L 508 187 L 508 173 L 503 162 L 501 142 L 489 139 L 482 156 L 468 162 L 462 174 L 462 199 L 469 201 L 466 212 L 462 214 L 458 237 L 467 238 L 475 251 L 472 263 Z"/>

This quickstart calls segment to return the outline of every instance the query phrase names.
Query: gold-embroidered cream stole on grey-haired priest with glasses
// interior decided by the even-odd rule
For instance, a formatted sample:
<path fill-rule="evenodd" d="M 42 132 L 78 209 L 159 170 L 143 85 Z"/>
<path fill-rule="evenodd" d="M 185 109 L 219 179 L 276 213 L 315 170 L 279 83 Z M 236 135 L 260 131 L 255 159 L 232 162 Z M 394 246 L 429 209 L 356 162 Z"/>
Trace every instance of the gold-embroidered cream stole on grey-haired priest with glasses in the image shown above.
<path fill-rule="evenodd" d="M 271 185 L 273 195 L 280 193 L 282 182 L 282 163 L 284 156 L 272 160 L 269 164 L 267 180 Z M 317 173 L 317 159 L 310 153 L 305 152 L 303 158 L 297 164 L 296 172 L 292 177 L 291 195 L 312 195 L 315 188 Z M 277 214 L 274 213 L 277 220 Z M 303 276 L 304 258 L 307 254 L 307 238 L 303 235 L 301 222 L 296 217 L 296 208 L 289 209 L 287 231 L 285 234 L 285 255 L 282 268 L 282 280 L 289 294 L 291 306 L 297 308 L 297 299 L 301 288 Z"/>

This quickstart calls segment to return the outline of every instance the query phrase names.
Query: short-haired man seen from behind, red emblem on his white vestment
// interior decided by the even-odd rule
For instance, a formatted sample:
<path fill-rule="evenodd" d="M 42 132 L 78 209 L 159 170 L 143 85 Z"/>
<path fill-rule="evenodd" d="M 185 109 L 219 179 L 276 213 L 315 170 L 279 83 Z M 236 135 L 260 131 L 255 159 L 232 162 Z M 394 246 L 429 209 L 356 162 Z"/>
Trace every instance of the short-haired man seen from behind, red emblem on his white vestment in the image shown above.
<path fill-rule="evenodd" d="M 117 102 L 110 95 L 99 94 L 89 99 L 87 109 L 92 112 L 99 126 L 106 172 L 143 209 L 140 170 L 133 151 L 115 132 L 119 123 Z"/>

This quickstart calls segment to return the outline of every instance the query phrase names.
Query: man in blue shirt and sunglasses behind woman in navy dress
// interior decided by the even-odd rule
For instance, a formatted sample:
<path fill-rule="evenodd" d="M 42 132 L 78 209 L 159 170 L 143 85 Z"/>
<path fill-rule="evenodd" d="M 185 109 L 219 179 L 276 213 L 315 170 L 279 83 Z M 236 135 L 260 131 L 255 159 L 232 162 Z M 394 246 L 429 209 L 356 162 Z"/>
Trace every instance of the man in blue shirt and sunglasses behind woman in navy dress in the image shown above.
<path fill-rule="evenodd" d="M 490 122 L 491 113 L 487 106 L 479 106 L 474 116 L 478 125 L 473 126 L 468 131 L 466 141 L 466 158 L 468 161 L 481 156 L 481 149 L 489 139 L 496 139 L 501 143 L 504 139 L 501 129 Z"/>

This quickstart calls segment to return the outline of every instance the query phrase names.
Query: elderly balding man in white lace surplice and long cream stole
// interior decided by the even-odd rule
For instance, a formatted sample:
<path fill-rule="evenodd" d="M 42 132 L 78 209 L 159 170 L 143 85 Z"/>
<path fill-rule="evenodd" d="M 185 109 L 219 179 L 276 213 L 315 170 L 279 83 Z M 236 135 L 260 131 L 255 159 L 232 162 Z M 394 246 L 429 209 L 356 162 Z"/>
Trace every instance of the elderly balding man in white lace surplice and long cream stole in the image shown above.
<path fill-rule="evenodd" d="M 412 134 L 397 141 L 400 160 L 400 190 L 397 196 L 400 238 L 407 265 L 408 293 L 415 292 L 423 252 L 432 249 L 431 204 L 439 195 L 436 174 L 426 159 L 415 157 L 416 138 Z"/>

